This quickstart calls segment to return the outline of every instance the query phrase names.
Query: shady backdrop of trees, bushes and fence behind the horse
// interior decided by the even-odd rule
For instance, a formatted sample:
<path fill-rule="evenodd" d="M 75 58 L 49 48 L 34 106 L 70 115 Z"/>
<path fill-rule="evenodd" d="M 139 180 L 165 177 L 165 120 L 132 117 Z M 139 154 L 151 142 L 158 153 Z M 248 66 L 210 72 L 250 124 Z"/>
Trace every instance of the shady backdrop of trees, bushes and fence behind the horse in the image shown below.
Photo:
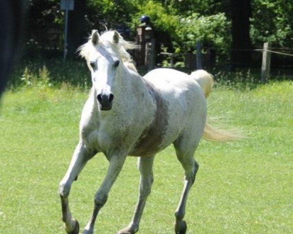
<path fill-rule="evenodd" d="M 92 29 L 106 28 L 140 45 L 130 53 L 142 75 L 164 66 L 186 72 L 204 68 L 216 80 L 293 78 L 291 0 L 28 0 L 22 9 L 9 87 L 44 66 L 54 74 L 52 83 L 84 86 L 87 73 L 62 69 L 86 69 L 76 50 Z M 269 69 L 263 78 L 262 69 Z"/>

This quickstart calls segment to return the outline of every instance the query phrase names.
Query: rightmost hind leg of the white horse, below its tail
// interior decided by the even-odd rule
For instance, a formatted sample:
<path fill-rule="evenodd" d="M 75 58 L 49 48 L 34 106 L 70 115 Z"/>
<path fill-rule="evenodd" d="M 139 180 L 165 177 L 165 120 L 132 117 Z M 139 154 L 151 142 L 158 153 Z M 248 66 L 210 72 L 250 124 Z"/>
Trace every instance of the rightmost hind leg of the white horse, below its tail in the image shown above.
<path fill-rule="evenodd" d="M 178 145 L 176 146 L 176 144 L 174 144 L 174 146 L 176 149 L 177 158 L 181 162 L 185 171 L 184 188 L 182 191 L 182 195 L 181 195 L 178 207 L 175 211 L 174 230 L 175 230 L 175 234 L 186 234 L 187 223 L 184 220 L 186 203 L 187 203 L 189 190 L 194 183 L 199 165 L 194 160 L 194 157 L 193 157 L 195 150 L 183 152 L 182 150 L 180 150 L 181 147 L 178 147 Z M 194 148 L 196 147 L 193 147 L 193 149 Z"/>

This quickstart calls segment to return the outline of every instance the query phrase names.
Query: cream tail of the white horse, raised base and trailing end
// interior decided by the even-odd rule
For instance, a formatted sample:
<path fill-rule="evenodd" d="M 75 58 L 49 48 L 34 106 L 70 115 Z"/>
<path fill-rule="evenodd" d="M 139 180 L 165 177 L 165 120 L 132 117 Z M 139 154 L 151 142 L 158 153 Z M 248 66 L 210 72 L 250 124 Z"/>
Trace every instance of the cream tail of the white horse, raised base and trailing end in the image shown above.
<path fill-rule="evenodd" d="M 197 70 L 190 74 L 202 88 L 204 95 L 208 98 L 211 88 L 213 86 L 213 77 L 205 70 Z M 207 122 L 212 121 L 213 118 L 207 117 Z M 203 137 L 210 141 L 227 142 L 231 140 L 239 140 L 246 138 L 241 135 L 241 132 L 235 129 L 225 130 L 217 127 L 213 127 L 206 122 Z"/>

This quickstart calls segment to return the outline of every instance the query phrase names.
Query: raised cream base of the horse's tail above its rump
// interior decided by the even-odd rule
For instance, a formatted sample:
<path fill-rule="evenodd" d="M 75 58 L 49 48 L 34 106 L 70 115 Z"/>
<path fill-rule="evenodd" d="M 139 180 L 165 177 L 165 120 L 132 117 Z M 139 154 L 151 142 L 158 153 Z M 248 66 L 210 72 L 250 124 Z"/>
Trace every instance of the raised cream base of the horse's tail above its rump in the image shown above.
<path fill-rule="evenodd" d="M 204 95 L 208 98 L 211 88 L 213 86 L 213 77 L 205 70 L 196 70 L 190 74 L 202 88 Z"/>

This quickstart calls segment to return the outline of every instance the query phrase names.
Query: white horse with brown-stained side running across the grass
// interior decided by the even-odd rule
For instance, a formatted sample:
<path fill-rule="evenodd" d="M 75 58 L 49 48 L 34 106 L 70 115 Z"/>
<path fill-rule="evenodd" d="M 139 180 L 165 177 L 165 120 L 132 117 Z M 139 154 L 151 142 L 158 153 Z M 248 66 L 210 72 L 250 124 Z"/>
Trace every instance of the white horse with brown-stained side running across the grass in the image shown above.
<path fill-rule="evenodd" d="M 93 233 L 96 217 L 126 156 L 138 156 L 139 199 L 131 222 L 118 234 L 136 233 L 153 182 L 154 156 L 170 144 L 174 145 L 185 171 L 174 223 L 175 233 L 185 234 L 188 192 L 198 170 L 193 155 L 202 135 L 215 141 L 234 138 L 229 132 L 206 123 L 206 98 L 213 83 L 209 73 L 200 70 L 187 75 L 172 69 L 156 69 L 141 77 L 126 52 L 133 47 L 116 31 L 101 36 L 93 31 L 80 49 L 93 85 L 80 121 L 80 141 L 60 182 L 63 222 L 68 234 L 79 233 L 79 223 L 72 217 L 68 205 L 72 182 L 98 152 L 104 153 L 109 167 L 95 194 L 93 214 L 83 234 Z"/>

